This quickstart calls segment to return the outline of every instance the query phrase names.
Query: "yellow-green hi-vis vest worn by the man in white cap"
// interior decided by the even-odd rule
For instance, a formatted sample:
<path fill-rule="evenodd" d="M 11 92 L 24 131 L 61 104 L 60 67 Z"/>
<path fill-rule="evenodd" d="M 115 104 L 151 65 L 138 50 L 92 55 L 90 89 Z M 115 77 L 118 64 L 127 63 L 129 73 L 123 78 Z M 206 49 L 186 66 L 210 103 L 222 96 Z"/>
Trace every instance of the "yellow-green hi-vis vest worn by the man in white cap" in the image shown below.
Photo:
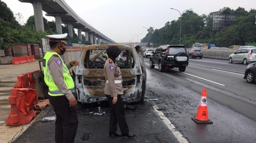
<path fill-rule="evenodd" d="M 53 55 L 58 55 L 56 52 L 49 52 L 47 51 L 45 53 L 43 61 L 43 69 L 44 69 L 44 82 L 49 87 L 48 94 L 51 96 L 61 96 L 64 95 L 60 89 L 56 86 L 56 84 L 53 81 L 53 78 L 51 76 L 51 72 L 48 67 L 48 61 Z M 58 55 L 60 57 L 60 55 Z M 62 62 L 62 72 L 64 77 L 64 82 L 68 89 L 71 90 L 71 92 L 74 91 L 74 82 L 72 77 L 69 74 L 69 70 L 67 69 L 67 66 L 63 62 L 62 58 L 60 57 L 60 61 L 54 61 L 54 62 Z"/>

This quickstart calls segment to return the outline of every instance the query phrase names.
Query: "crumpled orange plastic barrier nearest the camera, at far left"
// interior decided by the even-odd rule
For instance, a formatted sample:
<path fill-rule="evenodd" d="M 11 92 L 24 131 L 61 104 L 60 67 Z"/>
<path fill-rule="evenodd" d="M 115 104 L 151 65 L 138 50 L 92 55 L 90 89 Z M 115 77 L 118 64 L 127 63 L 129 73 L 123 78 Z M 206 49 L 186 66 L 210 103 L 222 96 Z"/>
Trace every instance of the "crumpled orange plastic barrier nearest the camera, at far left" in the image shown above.
<path fill-rule="evenodd" d="M 33 107 L 38 103 L 38 93 L 29 88 L 13 88 L 9 97 L 11 113 L 6 125 L 23 125 L 30 123 L 36 117 Z"/>

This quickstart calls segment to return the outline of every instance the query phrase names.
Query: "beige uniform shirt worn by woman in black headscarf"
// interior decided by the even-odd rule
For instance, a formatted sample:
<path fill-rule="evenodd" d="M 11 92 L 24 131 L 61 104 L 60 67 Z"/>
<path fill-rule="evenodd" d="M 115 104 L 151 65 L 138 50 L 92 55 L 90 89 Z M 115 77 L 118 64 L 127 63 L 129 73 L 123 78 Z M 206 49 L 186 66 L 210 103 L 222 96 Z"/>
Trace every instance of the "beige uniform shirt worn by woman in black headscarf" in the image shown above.
<path fill-rule="evenodd" d="M 105 84 L 105 95 L 111 95 L 111 97 L 117 97 L 117 95 L 122 95 L 122 73 L 120 68 L 110 58 L 107 58 L 107 61 L 105 62 L 104 75 L 105 79 L 108 81 L 108 83 L 106 82 Z"/>

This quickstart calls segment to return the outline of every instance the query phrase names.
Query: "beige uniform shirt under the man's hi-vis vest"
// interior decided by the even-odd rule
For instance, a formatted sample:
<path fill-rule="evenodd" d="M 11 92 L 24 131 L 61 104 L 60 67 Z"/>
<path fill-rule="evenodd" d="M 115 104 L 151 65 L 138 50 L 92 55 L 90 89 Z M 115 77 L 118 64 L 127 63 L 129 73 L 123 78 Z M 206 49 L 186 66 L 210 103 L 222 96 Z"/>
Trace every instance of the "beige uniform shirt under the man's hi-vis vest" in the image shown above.
<path fill-rule="evenodd" d="M 54 52 L 53 50 L 49 50 L 49 52 Z M 51 73 L 51 76 L 53 78 L 54 83 L 56 86 L 60 89 L 60 91 L 67 97 L 67 99 L 70 99 L 74 97 L 72 92 L 67 88 L 64 77 L 63 77 L 63 71 L 62 71 L 62 62 L 60 62 L 60 66 L 58 63 L 56 63 L 56 60 L 61 60 L 58 55 L 52 56 L 48 60 L 48 67 Z M 70 69 L 72 66 L 70 63 L 65 64 L 68 69 Z"/>

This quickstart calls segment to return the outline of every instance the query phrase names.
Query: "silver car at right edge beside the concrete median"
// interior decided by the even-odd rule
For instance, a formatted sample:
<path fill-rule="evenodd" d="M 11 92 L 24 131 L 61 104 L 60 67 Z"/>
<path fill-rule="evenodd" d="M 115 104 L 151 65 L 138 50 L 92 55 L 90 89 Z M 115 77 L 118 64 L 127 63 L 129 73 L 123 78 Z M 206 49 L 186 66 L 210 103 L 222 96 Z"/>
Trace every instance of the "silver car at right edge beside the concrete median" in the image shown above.
<path fill-rule="evenodd" d="M 233 62 L 242 62 L 243 64 L 256 62 L 256 48 L 243 48 L 237 50 L 229 55 L 229 63 Z"/>

